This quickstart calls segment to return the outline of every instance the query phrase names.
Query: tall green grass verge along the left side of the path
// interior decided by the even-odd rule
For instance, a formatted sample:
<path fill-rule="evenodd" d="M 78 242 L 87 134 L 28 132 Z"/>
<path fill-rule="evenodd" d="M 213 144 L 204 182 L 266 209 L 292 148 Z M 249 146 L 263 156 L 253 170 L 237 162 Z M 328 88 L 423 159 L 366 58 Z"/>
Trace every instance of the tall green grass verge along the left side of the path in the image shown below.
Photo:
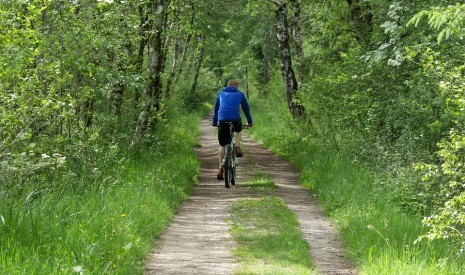
<path fill-rule="evenodd" d="M 142 274 L 199 173 L 200 116 L 169 120 L 137 152 L 118 148 L 80 175 L 0 187 L 0 274 Z"/>

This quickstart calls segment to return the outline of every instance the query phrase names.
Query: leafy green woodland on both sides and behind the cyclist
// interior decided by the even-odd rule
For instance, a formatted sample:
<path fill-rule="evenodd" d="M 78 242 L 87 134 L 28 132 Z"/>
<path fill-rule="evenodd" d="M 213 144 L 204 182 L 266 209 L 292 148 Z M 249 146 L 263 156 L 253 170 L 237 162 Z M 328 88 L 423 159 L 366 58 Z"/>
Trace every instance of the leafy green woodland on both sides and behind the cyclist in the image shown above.
<path fill-rule="evenodd" d="M 0 18 L 4 266 L 22 234 L 40 251 L 52 198 L 98 201 L 144 152 L 189 151 L 186 117 L 229 77 L 270 112 L 284 102 L 301 142 L 378 175 L 386 203 L 426 226 L 418 241 L 463 257 L 463 2 L 4 0 Z"/>

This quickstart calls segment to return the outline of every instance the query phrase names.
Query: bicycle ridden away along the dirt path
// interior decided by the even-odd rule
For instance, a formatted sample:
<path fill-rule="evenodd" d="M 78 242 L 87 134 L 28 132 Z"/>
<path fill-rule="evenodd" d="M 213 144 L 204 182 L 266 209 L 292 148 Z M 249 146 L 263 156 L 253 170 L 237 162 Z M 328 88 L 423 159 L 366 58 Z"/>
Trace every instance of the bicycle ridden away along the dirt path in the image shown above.
<path fill-rule="evenodd" d="M 234 139 L 234 125 L 232 122 L 229 124 L 229 143 L 224 147 L 223 171 L 224 171 L 224 186 L 230 188 L 231 185 L 236 185 L 236 140 Z M 248 125 L 242 125 L 245 129 Z"/>

